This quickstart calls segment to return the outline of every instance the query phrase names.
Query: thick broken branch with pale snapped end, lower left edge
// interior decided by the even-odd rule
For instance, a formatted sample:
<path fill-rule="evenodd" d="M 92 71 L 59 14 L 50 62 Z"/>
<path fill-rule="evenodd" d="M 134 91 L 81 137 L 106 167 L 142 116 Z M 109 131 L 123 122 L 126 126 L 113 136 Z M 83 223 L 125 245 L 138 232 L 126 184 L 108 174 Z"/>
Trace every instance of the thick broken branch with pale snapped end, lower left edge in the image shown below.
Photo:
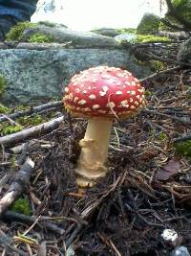
<path fill-rule="evenodd" d="M 11 203 L 23 192 L 29 184 L 33 174 L 34 163 L 31 158 L 27 158 L 18 173 L 14 176 L 11 186 L 6 195 L 0 199 L 0 216 L 11 205 Z"/>

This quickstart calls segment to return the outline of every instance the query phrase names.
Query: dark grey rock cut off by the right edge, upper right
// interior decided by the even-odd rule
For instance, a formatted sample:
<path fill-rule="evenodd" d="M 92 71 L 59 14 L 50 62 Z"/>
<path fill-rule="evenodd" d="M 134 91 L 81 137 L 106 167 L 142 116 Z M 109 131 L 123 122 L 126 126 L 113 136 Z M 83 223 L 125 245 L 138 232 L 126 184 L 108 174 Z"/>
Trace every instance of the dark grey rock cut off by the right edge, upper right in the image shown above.
<path fill-rule="evenodd" d="M 177 59 L 178 61 L 191 63 L 191 37 L 180 45 Z"/>

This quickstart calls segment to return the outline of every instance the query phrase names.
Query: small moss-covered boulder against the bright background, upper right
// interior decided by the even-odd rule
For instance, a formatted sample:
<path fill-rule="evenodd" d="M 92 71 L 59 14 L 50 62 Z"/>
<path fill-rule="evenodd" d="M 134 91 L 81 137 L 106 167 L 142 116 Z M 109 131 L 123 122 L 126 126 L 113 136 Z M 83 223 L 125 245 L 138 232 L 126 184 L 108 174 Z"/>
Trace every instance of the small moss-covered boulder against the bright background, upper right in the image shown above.
<path fill-rule="evenodd" d="M 153 13 L 145 13 L 138 24 L 137 33 L 157 33 L 159 31 L 159 23 L 159 16 Z"/>

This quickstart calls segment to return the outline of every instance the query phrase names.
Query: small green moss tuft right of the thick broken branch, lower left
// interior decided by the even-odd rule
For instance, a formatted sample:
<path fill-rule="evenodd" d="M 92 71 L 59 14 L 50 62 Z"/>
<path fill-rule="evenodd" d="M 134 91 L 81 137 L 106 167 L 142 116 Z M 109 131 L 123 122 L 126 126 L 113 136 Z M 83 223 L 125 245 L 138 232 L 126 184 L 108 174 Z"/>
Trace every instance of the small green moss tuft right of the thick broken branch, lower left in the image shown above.
<path fill-rule="evenodd" d="M 32 215 L 32 208 L 30 206 L 29 200 L 26 198 L 18 198 L 12 204 L 11 211 L 25 215 Z"/>

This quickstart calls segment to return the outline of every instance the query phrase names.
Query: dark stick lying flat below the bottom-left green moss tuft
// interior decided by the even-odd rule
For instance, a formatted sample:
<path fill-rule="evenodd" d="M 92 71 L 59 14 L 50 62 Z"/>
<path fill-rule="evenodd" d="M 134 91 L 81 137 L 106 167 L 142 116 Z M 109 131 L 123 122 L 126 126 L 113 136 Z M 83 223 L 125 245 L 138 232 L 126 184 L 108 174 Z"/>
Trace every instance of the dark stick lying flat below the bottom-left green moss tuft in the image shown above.
<path fill-rule="evenodd" d="M 36 221 L 38 218 L 34 217 L 34 216 L 27 216 L 24 214 L 19 214 L 19 213 L 14 213 L 11 211 L 6 211 L 3 216 L 3 218 L 10 220 L 10 221 L 24 221 L 26 223 L 32 224 L 34 221 Z M 53 231 L 54 233 L 58 234 L 58 235 L 63 235 L 65 230 L 59 226 L 57 226 L 56 224 L 49 222 L 49 221 L 44 221 L 39 219 L 38 222 L 36 223 L 38 226 L 44 226 L 45 228 L 47 228 L 50 231 Z"/>

